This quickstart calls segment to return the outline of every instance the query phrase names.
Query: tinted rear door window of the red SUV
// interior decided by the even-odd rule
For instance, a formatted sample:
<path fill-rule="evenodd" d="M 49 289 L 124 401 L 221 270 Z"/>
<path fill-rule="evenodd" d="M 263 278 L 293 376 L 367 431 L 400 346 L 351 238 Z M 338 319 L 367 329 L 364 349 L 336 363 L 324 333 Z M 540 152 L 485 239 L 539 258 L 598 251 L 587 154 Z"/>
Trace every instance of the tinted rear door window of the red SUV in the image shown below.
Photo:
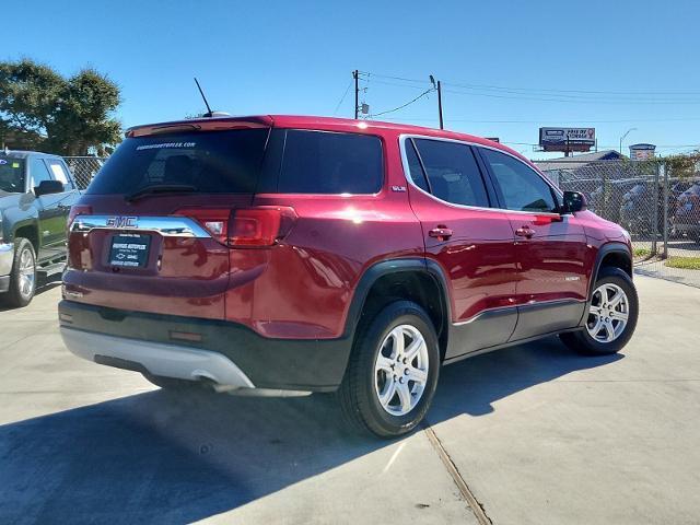
<path fill-rule="evenodd" d="M 479 165 L 471 148 L 458 142 L 415 139 L 431 192 L 447 202 L 488 207 Z"/>

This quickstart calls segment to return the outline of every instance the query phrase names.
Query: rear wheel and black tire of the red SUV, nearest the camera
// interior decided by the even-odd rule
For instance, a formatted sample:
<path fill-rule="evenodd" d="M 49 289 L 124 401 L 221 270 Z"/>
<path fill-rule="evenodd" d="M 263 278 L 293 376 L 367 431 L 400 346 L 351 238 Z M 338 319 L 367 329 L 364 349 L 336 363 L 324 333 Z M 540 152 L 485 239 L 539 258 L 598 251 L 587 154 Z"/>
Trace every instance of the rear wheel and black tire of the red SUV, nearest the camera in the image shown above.
<path fill-rule="evenodd" d="M 406 351 L 415 351 L 405 357 L 408 362 L 400 359 L 404 353 L 399 351 L 399 338 L 408 342 Z M 384 366 L 377 370 L 380 354 Z M 380 438 L 410 432 L 430 408 L 440 364 L 435 328 L 418 304 L 396 301 L 377 315 L 363 315 L 337 393 L 345 420 L 354 430 Z M 390 376 L 389 370 L 396 375 Z M 380 390 L 385 395 L 385 405 L 380 400 Z"/>

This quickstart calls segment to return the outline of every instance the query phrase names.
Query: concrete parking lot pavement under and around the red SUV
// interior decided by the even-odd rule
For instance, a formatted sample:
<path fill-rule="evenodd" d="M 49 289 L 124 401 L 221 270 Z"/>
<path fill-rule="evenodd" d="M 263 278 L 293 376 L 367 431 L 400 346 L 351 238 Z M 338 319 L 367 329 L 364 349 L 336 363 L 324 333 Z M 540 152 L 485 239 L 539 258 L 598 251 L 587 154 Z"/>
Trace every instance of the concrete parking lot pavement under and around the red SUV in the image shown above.
<path fill-rule="evenodd" d="M 0 312 L 0 523 L 698 523 L 700 290 L 637 284 L 623 353 L 447 366 L 393 442 L 348 434 L 330 396 L 166 393 L 79 360 L 45 285 Z"/>

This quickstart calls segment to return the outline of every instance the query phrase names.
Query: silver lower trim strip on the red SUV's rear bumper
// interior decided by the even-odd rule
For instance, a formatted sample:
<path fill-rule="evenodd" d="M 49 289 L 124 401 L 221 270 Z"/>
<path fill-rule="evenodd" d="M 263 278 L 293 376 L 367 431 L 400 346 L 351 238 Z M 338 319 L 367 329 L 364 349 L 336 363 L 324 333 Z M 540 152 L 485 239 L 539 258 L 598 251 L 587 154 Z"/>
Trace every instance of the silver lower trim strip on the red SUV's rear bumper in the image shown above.
<path fill-rule="evenodd" d="M 191 381 L 207 378 L 225 389 L 255 388 L 235 363 L 210 350 L 107 336 L 66 326 L 61 326 L 60 331 L 66 347 L 89 361 L 94 361 L 95 355 L 105 355 L 139 363 L 153 375 Z"/>

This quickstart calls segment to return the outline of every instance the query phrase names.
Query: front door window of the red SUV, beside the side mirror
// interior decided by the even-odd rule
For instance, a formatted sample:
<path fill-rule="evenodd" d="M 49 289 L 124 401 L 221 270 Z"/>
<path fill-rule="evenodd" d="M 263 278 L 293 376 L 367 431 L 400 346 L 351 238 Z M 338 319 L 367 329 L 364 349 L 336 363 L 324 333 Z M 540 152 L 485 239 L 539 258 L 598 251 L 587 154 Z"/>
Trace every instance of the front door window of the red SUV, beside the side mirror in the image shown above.
<path fill-rule="evenodd" d="M 501 188 L 509 210 L 555 211 L 557 205 L 549 185 L 527 164 L 499 151 L 481 149 Z"/>

